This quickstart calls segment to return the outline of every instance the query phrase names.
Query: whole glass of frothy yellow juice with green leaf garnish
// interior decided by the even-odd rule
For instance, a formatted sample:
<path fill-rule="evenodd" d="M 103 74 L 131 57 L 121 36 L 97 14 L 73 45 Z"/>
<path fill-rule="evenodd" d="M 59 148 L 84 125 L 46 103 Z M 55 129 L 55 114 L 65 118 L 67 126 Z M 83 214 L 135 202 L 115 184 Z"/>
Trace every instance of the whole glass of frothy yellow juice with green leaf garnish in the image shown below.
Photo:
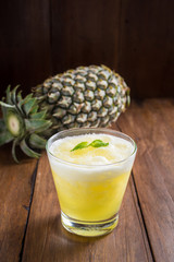
<path fill-rule="evenodd" d="M 47 153 L 65 229 L 101 236 L 119 222 L 119 210 L 137 146 L 110 129 L 61 131 L 47 142 Z"/>

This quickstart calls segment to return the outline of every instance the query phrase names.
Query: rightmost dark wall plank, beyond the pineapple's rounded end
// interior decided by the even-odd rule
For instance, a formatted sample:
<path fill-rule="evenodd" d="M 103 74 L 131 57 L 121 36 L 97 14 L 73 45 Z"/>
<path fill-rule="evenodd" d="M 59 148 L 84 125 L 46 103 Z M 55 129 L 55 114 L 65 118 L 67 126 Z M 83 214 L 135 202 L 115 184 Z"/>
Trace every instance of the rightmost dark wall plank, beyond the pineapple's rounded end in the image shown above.
<path fill-rule="evenodd" d="M 135 98 L 174 95 L 174 1 L 124 0 L 119 72 Z"/>

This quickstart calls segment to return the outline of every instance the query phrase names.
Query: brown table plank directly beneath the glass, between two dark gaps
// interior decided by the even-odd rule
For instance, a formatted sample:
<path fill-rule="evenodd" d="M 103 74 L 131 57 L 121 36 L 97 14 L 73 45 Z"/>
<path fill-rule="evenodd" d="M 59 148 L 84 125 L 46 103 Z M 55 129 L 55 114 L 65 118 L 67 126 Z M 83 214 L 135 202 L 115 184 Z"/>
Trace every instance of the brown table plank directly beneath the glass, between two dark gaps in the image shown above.
<path fill-rule="evenodd" d="M 122 204 L 117 228 L 100 238 L 78 237 L 61 226 L 57 192 L 44 154 L 38 166 L 22 261 L 152 261 L 132 179 Z"/>

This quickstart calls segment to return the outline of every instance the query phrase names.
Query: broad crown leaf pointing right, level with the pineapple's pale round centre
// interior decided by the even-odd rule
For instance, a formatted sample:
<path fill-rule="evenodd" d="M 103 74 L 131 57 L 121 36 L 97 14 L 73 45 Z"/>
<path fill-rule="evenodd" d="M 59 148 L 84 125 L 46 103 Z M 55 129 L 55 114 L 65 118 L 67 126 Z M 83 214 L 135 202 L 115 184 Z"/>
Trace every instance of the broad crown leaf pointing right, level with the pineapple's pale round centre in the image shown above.
<path fill-rule="evenodd" d="M 29 132 L 42 132 L 51 127 L 52 122 L 45 119 L 25 119 L 26 130 Z"/>

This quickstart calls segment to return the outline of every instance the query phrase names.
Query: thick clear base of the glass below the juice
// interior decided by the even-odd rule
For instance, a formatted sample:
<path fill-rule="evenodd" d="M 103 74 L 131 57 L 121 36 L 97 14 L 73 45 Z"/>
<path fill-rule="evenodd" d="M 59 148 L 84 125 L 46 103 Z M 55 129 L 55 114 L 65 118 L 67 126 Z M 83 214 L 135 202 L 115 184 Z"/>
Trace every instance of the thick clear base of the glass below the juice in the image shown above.
<path fill-rule="evenodd" d="M 61 221 L 63 227 L 70 231 L 85 237 L 98 237 L 112 231 L 119 223 L 119 214 L 110 219 L 101 222 L 83 222 L 69 217 L 61 212 Z"/>

